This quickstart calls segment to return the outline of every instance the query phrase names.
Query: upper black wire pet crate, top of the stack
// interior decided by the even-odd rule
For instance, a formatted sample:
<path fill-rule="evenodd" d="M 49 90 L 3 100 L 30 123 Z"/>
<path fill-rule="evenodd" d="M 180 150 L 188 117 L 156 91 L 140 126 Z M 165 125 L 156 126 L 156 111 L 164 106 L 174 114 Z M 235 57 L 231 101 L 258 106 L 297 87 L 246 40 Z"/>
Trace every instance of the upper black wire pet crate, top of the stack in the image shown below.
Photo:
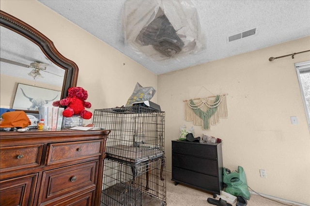
<path fill-rule="evenodd" d="M 97 109 L 93 124 L 111 130 L 108 158 L 139 163 L 164 156 L 165 112 L 140 105 Z"/>

